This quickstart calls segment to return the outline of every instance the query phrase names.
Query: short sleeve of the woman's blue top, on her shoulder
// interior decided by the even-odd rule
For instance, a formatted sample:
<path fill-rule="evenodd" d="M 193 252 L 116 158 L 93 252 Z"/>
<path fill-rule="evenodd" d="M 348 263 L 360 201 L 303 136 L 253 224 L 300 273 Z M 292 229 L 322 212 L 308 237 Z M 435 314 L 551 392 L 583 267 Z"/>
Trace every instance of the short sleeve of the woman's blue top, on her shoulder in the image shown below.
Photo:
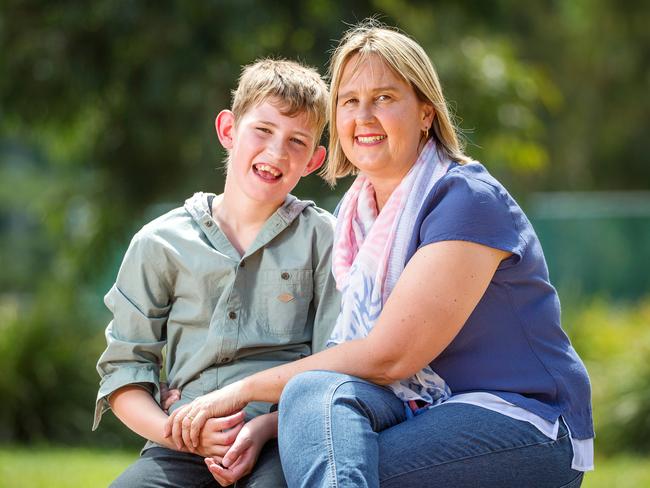
<path fill-rule="evenodd" d="M 427 196 L 418 219 L 418 248 L 441 241 L 468 241 L 511 252 L 518 261 L 525 243 L 517 209 L 496 180 L 478 177 L 459 166 L 441 178 Z"/>

